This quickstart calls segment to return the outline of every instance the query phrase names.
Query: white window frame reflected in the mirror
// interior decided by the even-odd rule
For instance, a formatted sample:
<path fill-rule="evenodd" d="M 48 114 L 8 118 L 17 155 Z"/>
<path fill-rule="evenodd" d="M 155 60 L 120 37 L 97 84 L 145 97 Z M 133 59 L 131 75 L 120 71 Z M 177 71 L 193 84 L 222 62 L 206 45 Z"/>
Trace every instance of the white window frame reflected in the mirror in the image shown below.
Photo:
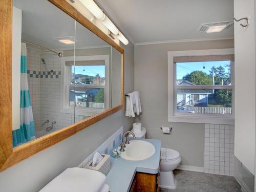
<path fill-rule="evenodd" d="M 66 61 L 90 61 L 90 60 L 104 60 L 105 61 L 105 86 L 104 86 L 104 109 L 94 109 L 94 108 L 83 108 L 79 106 L 70 106 L 69 104 L 69 88 L 71 82 L 71 69 L 70 66 L 66 66 Z M 60 112 L 70 113 L 82 116 L 92 116 L 109 109 L 109 55 L 90 55 L 90 56 L 71 56 L 71 57 L 61 57 L 61 97 L 60 97 Z M 94 88 L 97 88 L 94 86 Z M 101 88 L 101 86 L 100 86 Z"/>

